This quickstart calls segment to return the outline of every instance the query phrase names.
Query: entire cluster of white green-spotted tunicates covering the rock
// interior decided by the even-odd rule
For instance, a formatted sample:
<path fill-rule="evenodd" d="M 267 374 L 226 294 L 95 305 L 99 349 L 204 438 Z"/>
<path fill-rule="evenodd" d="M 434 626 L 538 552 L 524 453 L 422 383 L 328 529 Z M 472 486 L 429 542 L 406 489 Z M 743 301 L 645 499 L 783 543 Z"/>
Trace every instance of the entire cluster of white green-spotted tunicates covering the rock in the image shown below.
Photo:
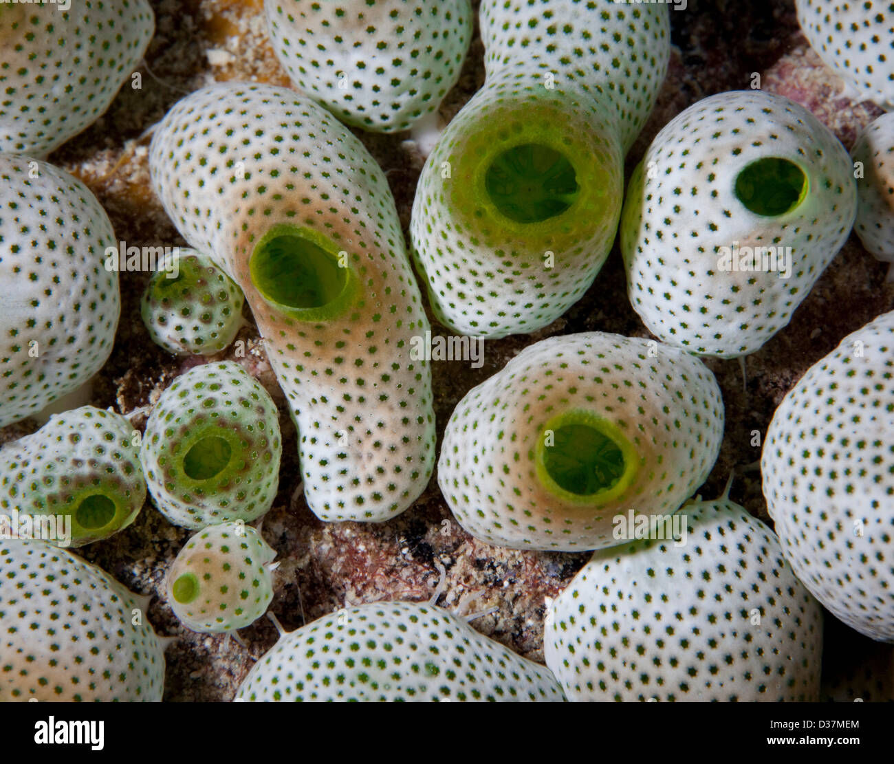
<path fill-rule="evenodd" d="M 797 13 L 823 61 L 890 109 L 892 13 L 874 5 Z M 724 426 L 699 356 L 743 357 L 783 331 L 852 230 L 894 262 L 894 114 L 848 155 L 788 98 L 720 93 L 664 126 L 625 187 L 670 60 L 664 4 L 482 0 L 486 79 L 440 134 L 468 0 L 265 10 L 300 92 L 216 83 L 153 133 L 152 188 L 188 247 L 139 311 L 152 341 L 198 365 L 140 430 L 65 404 L 89 399 L 112 352 L 118 241 L 91 191 L 43 157 L 111 104 L 154 16 L 146 0 L 0 3 L 0 426 L 63 407 L 0 449 L 0 701 L 162 698 L 148 598 L 65 549 L 122 531 L 147 497 L 193 532 L 164 577 L 183 627 L 235 635 L 266 613 L 276 552 L 249 524 L 277 499 L 280 413 L 248 367 L 213 358 L 245 303 L 321 520 L 400 514 L 437 458 L 477 539 L 594 554 L 547 602 L 545 667 L 434 601 L 375 602 L 280 628 L 236 700 L 815 701 L 821 605 L 894 642 L 894 312 L 841 340 L 772 417 L 775 533 L 729 485 L 693 498 Z M 433 124 L 407 248 L 384 172 L 346 125 Z M 660 341 L 529 345 L 460 400 L 438 453 L 432 368 L 414 352 L 432 328 L 424 291 L 453 332 L 536 332 L 583 297 L 619 231 L 631 306 Z"/>

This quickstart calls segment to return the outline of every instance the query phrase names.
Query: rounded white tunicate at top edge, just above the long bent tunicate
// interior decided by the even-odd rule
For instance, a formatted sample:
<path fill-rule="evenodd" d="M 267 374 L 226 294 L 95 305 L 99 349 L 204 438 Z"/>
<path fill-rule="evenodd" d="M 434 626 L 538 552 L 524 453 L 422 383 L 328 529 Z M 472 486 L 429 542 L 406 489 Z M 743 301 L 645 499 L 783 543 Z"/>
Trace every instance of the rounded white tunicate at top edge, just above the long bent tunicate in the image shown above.
<path fill-rule="evenodd" d="M 296 88 L 376 132 L 408 130 L 436 112 L 472 37 L 469 0 L 266 0 L 265 9 Z"/>

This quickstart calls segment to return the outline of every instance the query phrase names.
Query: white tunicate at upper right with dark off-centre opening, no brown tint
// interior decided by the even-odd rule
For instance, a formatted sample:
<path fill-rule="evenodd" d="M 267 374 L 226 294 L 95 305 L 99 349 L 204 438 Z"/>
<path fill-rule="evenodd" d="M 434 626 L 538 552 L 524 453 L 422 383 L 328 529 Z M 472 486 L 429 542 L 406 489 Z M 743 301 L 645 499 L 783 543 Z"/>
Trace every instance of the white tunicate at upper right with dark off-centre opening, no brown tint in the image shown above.
<path fill-rule="evenodd" d="M 802 196 L 755 212 L 775 179 L 749 182 L 749 168 L 777 160 L 802 173 Z M 748 355 L 789 323 L 855 215 L 850 157 L 803 106 L 759 90 L 705 98 L 662 128 L 628 184 L 628 297 L 665 342 Z"/>

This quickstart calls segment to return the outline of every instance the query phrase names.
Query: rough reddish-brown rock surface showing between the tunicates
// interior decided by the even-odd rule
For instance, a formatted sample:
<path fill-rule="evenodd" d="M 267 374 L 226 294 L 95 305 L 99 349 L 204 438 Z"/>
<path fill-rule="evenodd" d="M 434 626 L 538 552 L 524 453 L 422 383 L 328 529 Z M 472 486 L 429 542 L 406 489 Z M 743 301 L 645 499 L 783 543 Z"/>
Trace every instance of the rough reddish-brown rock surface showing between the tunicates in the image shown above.
<path fill-rule="evenodd" d="M 185 94 L 215 80 L 251 80 L 289 85 L 266 34 L 262 0 L 151 0 L 156 36 L 141 66 L 143 87 L 128 86 L 96 124 L 50 156 L 79 176 L 105 206 L 118 239 L 136 246 L 183 245 L 149 186 L 148 139 L 141 136 Z M 476 3 L 477 4 L 477 3 Z M 856 104 L 842 83 L 807 46 L 791 0 L 755 4 L 690 0 L 686 11 L 671 11 L 674 45 L 667 80 L 654 113 L 628 155 L 628 174 L 655 133 L 703 97 L 748 88 L 753 72 L 764 90 L 805 105 L 848 149 L 865 124 L 881 110 Z M 473 40 L 460 81 L 441 113 L 450 119 L 484 81 L 483 49 Z M 381 136 L 355 130 L 387 172 L 406 233 L 421 162 L 402 141 L 406 133 Z M 894 308 L 894 285 L 887 266 L 877 263 L 852 235 L 814 286 L 789 326 L 747 359 L 747 385 L 737 361 L 709 360 L 726 404 L 721 456 L 702 491 L 719 495 L 732 469 L 732 499 L 769 521 L 760 472 L 760 449 L 751 432 L 765 432 L 773 410 L 808 366 L 829 353 L 849 332 Z M 139 318 L 139 296 L 147 273 L 122 273 L 122 319 L 114 352 L 94 383 L 92 403 L 128 414 L 151 407 L 158 395 L 191 365 L 157 348 Z M 447 571 L 439 604 L 462 611 L 496 607 L 474 626 L 530 659 L 543 660 L 544 598 L 556 596 L 586 561 L 586 553 L 520 552 L 473 539 L 451 519 L 436 477 L 416 504 L 383 524 L 325 524 L 308 510 L 299 486 L 298 448 L 282 392 L 267 364 L 257 329 L 243 328 L 249 353 L 232 348 L 213 359 L 245 365 L 280 407 L 283 466 L 264 536 L 281 566 L 274 574 L 271 610 L 287 629 L 338 609 L 345 603 L 424 600 L 438 583 L 435 564 Z M 430 316 L 431 317 L 431 316 Z M 434 321 L 433 321 L 434 323 Z M 434 323 L 434 332 L 447 333 Z M 648 337 L 629 306 L 617 248 L 585 298 L 544 330 L 504 340 L 488 340 L 485 364 L 433 364 L 434 407 L 439 440 L 453 407 L 477 383 L 498 370 L 521 348 L 557 334 L 617 332 Z M 134 420 L 139 428 L 146 422 Z M 33 432 L 26 420 L 0 430 L 0 443 Z M 444 521 L 447 521 L 446 523 Z M 153 596 L 149 619 L 159 634 L 179 639 L 167 651 L 166 701 L 229 701 L 253 662 L 274 643 L 266 619 L 240 634 L 247 647 L 223 636 L 195 634 L 181 627 L 164 604 L 162 584 L 169 566 L 191 532 L 170 525 L 147 501 L 137 521 L 113 538 L 80 553 L 136 592 Z M 894 700 L 894 646 L 873 642 L 826 618 L 822 697 L 825 700 Z"/>

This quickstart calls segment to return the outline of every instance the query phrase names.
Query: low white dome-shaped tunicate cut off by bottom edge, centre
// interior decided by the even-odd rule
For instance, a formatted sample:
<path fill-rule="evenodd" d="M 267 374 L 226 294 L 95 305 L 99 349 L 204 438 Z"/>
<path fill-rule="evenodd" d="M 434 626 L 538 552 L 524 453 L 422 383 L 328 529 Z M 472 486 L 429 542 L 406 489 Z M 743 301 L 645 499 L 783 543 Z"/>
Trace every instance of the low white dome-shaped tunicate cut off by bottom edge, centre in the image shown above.
<path fill-rule="evenodd" d="M 344 608 L 257 661 L 237 701 L 563 701 L 550 670 L 427 603 Z"/>

